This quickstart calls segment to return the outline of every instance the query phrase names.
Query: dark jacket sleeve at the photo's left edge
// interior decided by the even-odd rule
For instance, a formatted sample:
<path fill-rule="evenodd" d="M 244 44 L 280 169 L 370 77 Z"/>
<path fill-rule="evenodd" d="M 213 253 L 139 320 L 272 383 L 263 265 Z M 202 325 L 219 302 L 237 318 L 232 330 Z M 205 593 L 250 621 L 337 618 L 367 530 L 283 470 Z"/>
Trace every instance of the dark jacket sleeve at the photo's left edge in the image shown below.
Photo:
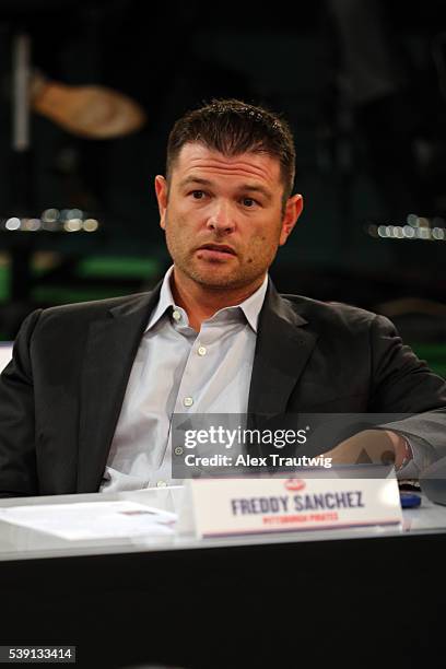
<path fill-rule="evenodd" d="M 38 494 L 31 341 L 42 309 L 24 320 L 0 376 L 0 496 Z"/>

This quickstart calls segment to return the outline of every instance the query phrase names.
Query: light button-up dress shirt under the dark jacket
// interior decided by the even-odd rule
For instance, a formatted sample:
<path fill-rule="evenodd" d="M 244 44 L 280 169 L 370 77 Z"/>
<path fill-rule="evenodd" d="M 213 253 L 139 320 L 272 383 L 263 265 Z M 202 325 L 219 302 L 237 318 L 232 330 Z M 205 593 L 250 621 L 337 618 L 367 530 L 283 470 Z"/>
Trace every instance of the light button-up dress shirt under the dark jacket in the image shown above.
<path fill-rule="evenodd" d="M 172 478 L 174 413 L 247 413 L 257 324 L 268 286 L 220 309 L 197 333 L 164 277 L 130 373 L 102 492 L 180 483 Z"/>

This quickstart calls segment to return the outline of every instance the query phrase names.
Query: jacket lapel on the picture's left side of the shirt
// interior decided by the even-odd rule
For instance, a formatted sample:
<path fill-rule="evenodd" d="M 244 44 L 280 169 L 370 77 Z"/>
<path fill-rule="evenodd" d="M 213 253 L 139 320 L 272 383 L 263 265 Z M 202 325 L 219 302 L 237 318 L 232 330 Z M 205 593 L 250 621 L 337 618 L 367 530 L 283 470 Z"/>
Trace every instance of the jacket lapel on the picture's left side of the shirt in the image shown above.
<path fill-rule="evenodd" d="M 78 492 L 98 490 L 127 383 L 160 286 L 92 321 L 82 373 Z"/>

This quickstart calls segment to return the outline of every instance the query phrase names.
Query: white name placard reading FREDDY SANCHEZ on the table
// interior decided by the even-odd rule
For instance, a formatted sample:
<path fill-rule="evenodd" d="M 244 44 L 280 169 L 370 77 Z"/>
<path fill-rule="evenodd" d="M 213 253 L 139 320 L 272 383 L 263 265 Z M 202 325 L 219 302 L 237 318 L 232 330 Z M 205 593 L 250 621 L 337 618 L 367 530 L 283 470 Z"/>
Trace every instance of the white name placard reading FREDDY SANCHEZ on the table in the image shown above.
<path fill-rule="evenodd" d="M 199 537 L 398 525 L 391 479 L 196 479 L 190 481 Z"/>

